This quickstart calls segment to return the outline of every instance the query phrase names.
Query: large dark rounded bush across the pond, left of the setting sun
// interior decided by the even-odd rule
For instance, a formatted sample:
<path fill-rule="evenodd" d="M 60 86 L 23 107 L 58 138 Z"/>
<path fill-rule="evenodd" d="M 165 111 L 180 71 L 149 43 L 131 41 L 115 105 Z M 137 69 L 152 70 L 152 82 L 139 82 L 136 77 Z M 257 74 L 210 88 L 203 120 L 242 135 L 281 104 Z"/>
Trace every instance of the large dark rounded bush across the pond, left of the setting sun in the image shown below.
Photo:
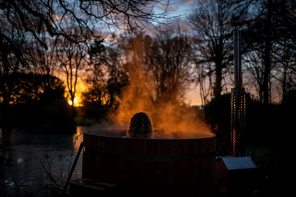
<path fill-rule="evenodd" d="M 74 119 L 71 117 L 73 109 L 65 100 L 65 87 L 61 80 L 52 76 L 50 84 L 46 85 L 46 78 L 47 76 L 25 73 L 11 76 L 17 85 L 13 90 L 14 105 L 10 108 L 9 126 L 43 128 L 50 132 L 61 130 L 73 132 Z"/>

